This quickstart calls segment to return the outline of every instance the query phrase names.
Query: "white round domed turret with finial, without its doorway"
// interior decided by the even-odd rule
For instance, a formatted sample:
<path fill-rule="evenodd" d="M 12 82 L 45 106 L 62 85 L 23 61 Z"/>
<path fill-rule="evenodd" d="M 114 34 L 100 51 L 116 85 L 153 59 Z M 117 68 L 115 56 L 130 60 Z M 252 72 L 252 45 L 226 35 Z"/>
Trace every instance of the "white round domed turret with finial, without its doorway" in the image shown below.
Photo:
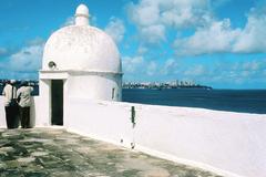
<path fill-rule="evenodd" d="M 120 101 L 122 69 L 116 44 L 89 25 L 89 9 L 80 4 L 75 24 L 55 31 L 47 41 L 41 73 L 68 73 L 69 96 Z M 44 77 L 44 74 L 41 75 Z"/>

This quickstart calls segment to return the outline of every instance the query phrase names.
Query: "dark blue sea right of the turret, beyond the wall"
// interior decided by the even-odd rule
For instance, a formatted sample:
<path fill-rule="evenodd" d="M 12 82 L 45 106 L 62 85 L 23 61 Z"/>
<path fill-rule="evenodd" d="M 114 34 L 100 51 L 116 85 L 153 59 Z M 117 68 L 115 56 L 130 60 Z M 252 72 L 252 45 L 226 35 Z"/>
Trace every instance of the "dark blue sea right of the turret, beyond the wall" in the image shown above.
<path fill-rule="evenodd" d="M 123 90 L 123 102 L 266 114 L 266 90 Z"/>

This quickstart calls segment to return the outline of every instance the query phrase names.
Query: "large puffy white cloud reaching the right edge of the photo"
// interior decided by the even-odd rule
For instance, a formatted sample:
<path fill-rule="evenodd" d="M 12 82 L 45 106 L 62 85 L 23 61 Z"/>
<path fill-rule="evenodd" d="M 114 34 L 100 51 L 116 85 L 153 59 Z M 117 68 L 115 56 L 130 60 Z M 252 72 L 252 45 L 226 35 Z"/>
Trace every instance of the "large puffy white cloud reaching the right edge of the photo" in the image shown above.
<path fill-rule="evenodd" d="M 265 9 L 253 9 L 243 29 L 233 29 L 229 19 L 212 21 L 207 27 L 197 28 L 191 37 L 177 38 L 175 52 L 181 55 L 266 52 L 265 12 Z"/>

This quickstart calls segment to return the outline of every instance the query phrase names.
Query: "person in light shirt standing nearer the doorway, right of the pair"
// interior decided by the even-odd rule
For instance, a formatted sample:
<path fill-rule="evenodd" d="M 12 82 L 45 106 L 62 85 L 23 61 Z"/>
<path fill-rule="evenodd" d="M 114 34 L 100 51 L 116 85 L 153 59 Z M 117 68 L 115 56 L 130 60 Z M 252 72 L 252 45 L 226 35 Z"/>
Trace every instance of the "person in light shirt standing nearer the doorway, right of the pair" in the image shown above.
<path fill-rule="evenodd" d="M 22 82 L 21 87 L 17 92 L 19 101 L 20 122 L 22 128 L 30 128 L 30 106 L 31 106 L 31 92 L 33 87 L 29 86 L 28 82 Z"/>

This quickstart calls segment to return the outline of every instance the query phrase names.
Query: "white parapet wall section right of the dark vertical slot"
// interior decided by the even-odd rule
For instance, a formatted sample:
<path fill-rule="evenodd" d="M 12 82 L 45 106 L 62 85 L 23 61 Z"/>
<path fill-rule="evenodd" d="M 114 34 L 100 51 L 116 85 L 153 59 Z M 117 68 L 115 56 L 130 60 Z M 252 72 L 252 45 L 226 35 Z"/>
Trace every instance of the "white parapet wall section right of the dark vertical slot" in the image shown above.
<path fill-rule="evenodd" d="M 137 117 L 135 140 L 144 148 L 228 176 L 266 174 L 265 115 L 144 106 Z"/>

